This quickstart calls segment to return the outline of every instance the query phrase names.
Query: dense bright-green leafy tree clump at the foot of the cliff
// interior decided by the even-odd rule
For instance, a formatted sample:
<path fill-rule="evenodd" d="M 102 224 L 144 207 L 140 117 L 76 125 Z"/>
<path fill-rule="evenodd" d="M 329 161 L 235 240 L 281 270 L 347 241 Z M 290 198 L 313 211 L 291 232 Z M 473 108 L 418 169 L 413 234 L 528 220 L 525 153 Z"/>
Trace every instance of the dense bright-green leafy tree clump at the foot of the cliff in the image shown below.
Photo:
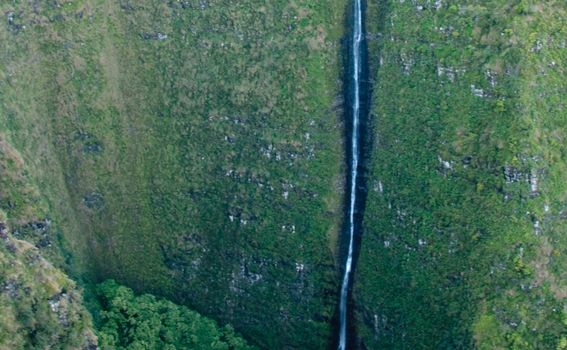
<path fill-rule="evenodd" d="M 252 350 L 232 327 L 150 294 L 134 292 L 108 280 L 96 287 L 100 303 L 102 349 Z"/>

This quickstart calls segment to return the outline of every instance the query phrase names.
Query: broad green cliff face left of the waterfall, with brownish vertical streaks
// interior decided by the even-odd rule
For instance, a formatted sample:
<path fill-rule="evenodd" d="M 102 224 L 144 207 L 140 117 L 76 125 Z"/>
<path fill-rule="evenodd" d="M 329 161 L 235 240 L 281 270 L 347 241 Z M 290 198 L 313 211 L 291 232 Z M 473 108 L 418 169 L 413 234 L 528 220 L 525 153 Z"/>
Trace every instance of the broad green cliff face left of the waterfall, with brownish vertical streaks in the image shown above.
<path fill-rule="evenodd" d="M 0 130 L 67 268 L 186 303 L 264 347 L 324 347 L 344 7 L 2 3 Z"/>

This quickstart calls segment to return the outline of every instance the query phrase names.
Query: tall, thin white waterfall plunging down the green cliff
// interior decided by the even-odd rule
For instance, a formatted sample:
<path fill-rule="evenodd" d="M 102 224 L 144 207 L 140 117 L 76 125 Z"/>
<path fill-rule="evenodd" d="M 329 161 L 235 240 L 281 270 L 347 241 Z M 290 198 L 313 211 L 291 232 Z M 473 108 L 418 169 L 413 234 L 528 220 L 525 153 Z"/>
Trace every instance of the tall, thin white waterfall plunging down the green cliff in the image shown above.
<path fill-rule="evenodd" d="M 358 181 L 358 160 L 360 156 L 360 75 L 361 75 L 361 41 L 362 41 L 362 0 L 354 0 L 354 22 L 352 33 L 351 55 L 352 59 L 352 134 L 351 134 L 351 164 L 350 164 L 350 200 L 348 209 L 348 255 L 344 266 L 343 282 L 339 303 L 339 350 L 346 350 L 347 346 L 347 300 L 352 270 L 352 255 L 354 250 L 356 209 L 356 185 Z"/>

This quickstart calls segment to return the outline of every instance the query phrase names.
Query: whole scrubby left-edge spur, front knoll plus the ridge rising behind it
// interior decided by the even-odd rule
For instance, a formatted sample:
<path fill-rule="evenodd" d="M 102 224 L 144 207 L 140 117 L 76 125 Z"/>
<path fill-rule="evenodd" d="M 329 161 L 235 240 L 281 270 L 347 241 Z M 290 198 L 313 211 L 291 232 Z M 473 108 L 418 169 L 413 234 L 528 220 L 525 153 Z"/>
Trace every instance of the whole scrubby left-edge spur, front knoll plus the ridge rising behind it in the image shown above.
<path fill-rule="evenodd" d="M 0 134 L 0 349 L 96 349 L 81 290 L 42 254 L 61 261 L 46 211 Z"/>

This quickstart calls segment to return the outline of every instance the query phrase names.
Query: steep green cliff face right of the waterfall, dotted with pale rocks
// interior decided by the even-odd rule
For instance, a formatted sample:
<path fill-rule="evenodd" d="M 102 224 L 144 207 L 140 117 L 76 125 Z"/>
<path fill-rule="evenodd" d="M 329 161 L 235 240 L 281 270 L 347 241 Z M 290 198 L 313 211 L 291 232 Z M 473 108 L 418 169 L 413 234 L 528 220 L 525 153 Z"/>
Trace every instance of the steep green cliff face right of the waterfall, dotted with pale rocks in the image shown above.
<path fill-rule="evenodd" d="M 566 346 L 565 15 L 369 1 L 361 346 Z"/>

